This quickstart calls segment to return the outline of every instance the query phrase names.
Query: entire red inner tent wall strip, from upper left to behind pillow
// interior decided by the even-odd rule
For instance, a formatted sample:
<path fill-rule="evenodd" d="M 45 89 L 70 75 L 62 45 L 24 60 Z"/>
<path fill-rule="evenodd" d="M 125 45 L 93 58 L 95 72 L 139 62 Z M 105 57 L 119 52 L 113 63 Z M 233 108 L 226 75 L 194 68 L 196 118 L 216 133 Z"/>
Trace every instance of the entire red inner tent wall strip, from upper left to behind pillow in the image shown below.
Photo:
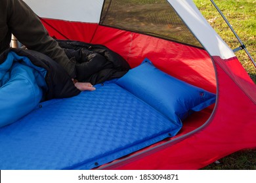
<path fill-rule="evenodd" d="M 42 21 L 56 39 L 103 44 L 123 56 L 131 67 L 148 58 L 165 73 L 216 92 L 215 71 L 205 50 L 97 24 L 52 19 Z"/>

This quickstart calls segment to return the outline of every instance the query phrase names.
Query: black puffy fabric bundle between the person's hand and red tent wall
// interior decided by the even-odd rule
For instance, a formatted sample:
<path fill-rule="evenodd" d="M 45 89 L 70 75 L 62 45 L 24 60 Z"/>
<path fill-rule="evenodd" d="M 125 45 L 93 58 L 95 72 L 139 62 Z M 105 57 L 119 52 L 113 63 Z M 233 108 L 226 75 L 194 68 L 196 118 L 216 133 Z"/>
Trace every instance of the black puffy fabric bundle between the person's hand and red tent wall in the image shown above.
<path fill-rule="evenodd" d="M 76 62 L 76 79 L 95 85 L 106 80 L 120 78 L 131 67 L 119 54 L 100 44 L 79 41 L 60 41 L 68 58 Z"/>

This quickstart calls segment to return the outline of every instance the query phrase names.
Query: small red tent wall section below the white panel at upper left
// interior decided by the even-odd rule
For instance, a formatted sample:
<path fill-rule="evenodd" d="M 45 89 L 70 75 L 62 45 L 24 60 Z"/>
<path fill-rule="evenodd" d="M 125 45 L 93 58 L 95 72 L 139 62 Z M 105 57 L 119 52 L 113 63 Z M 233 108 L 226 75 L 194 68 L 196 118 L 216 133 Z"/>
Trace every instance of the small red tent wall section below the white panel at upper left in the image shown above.
<path fill-rule="evenodd" d="M 69 22 L 43 18 L 43 25 L 51 37 L 56 39 L 70 39 L 75 41 L 91 42 L 98 24 L 85 24 L 82 22 Z"/>

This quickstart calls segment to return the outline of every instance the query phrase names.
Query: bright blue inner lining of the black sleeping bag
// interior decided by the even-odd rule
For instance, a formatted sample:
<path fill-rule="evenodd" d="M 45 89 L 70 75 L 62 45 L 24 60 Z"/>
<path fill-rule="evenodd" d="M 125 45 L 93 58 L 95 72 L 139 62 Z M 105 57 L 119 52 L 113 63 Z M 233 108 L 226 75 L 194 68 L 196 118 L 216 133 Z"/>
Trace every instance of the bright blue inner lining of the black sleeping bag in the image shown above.
<path fill-rule="evenodd" d="M 27 57 L 9 52 L 0 65 L 0 127 L 15 122 L 35 108 L 47 90 L 46 70 Z"/>

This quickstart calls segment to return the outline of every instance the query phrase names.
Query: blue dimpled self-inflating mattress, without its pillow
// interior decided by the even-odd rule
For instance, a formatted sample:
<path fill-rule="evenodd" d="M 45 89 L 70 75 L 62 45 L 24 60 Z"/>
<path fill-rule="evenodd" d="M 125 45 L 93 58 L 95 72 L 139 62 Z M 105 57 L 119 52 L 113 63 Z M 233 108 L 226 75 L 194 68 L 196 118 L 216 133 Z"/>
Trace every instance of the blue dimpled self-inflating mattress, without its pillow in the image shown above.
<path fill-rule="evenodd" d="M 0 169 L 93 169 L 181 129 L 115 81 L 95 87 L 0 128 Z"/>

